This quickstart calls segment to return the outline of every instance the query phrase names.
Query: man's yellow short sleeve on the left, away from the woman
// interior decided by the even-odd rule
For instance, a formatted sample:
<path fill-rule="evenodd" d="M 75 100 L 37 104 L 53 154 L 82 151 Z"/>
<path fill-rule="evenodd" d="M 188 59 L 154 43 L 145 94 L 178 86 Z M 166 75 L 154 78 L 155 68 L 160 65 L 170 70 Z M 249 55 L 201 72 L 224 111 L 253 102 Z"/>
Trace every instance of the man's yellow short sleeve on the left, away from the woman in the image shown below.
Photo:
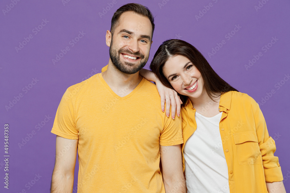
<path fill-rule="evenodd" d="M 71 99 L 71 93 L 67 89 L 64 93 L 57 112 L 55 115 L 55 120 L 52 126 L 51 133 L 59 135 L 67 139 L 78 139 L 78 131 L 76 129 L 73 102 Z"/>

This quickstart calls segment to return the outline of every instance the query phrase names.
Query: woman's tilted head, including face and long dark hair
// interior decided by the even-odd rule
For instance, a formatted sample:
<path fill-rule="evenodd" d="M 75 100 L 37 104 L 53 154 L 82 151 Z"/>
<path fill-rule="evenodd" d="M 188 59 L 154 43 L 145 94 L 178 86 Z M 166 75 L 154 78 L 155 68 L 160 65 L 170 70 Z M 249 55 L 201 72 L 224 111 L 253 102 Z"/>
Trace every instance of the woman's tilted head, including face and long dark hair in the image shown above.
<path fill-rule="evenodd" d="M 175 89 L 183 101 L 186 97 L 208 95 L 213 99 L 227 91 L 237 91 L 212 69 L 204 56 L 183 40 L 164 41 L 157 49 L 150 65 L 157 78 Z"/>

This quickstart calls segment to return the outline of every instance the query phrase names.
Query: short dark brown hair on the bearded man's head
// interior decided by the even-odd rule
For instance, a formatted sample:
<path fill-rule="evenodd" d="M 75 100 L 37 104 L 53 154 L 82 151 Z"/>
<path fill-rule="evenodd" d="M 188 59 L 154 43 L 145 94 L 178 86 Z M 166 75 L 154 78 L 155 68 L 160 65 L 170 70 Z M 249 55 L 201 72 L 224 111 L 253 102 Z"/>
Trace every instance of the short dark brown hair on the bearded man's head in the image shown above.
<path fill-rule="evenodd" d="M 115 28 L 119 25 L 119 18 L 122 15 L 122 13 L 127 12 L 127 11 L 133 11 L 136 14 L 139 14 L 141 16 L 148 17 L 148 19 L 151 22 L 152 25 L 152 36 L 154 32 L 154 17 L 151 13 L 151 11 L 145 7 L 144 5 L 138 4 L 138 3 L 128 3 L 120 7 L 113 15 L 112 20 L 111 20 L 111 29 L 110 32 L 113 36 Z M 151 37 L 152 39 L 152 37 Z"/>

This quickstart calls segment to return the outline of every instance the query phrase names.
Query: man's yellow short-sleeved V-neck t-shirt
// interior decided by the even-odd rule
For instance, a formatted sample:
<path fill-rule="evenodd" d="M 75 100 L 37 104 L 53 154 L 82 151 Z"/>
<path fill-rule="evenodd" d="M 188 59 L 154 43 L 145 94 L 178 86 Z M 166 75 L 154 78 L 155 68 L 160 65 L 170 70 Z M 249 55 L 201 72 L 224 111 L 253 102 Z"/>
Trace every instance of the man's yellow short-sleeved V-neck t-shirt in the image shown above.
<path fill-rule="evenodd" d="M 143 78 L 119 97 L 99 73 L 66 90 L 51 132 L 79 140 L 79 193 L 159 193 L 160 145 L 182 144 L 181 128 L 160 110 L 155 84 Z"/>

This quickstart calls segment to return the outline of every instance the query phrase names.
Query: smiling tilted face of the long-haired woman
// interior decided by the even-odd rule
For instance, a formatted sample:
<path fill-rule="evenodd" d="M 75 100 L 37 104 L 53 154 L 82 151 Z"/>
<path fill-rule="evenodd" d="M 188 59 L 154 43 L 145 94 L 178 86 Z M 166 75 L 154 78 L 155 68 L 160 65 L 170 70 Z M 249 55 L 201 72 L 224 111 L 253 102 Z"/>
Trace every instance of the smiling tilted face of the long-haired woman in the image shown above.
<path fill-rule="evenodd" d="M 190 98 L 198 98 L 206 93 L 200 71 L 185 56 L 169 57 L 164 64 L 163 74 L 177 93 Z"/>

